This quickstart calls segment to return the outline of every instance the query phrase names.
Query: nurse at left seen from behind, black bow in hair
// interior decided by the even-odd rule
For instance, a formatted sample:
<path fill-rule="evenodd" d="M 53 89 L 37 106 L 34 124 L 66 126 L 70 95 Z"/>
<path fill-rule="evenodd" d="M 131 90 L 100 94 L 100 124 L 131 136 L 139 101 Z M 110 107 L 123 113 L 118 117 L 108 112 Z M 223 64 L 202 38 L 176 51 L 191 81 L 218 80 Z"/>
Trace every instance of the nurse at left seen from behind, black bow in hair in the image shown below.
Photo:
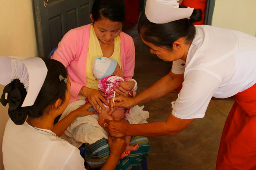
<path fill-rule="evenodd" d="M 0 101 L 9 104 L 10 116 L 2 147 L 5 170 L 84 170 L 78 148 L 59 137 L 78 116 L 94 114 L 88 111 L 91 105 L 53 124 L 70 98 L 65 67 L 53 59 L 1 56 L 0 72 L 0 84 L 6 85 Z M 110 156 L 102 169 L 113 170 L 125 146 L 123 139 L 110 137 Z"/>

